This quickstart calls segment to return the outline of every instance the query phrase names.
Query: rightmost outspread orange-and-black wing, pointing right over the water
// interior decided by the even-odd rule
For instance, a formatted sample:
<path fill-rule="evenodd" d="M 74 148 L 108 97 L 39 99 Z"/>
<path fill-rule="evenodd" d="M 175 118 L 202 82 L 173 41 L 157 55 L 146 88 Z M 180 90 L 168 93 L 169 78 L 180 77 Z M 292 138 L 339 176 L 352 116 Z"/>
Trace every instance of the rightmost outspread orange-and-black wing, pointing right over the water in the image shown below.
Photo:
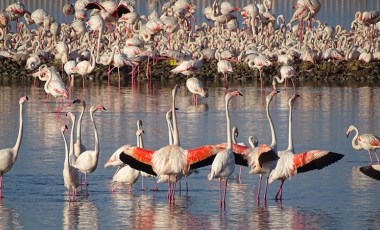
<path fill-rule="evenodd" d="M 297 173 L 308 172 L 314 169 L 322 169 L 344 157 L 343 154 L 327 150 L 311 150 L 304 153 L 294 154 L 293 163 Z"/>

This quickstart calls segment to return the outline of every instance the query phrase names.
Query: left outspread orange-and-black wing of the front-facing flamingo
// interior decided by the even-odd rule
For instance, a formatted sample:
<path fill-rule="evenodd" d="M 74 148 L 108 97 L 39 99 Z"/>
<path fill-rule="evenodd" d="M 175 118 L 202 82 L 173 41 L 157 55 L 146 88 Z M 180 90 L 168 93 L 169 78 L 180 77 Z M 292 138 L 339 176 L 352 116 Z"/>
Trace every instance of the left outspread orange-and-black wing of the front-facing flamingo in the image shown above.
<path fill-rule="evenodd" d="M 127 147 L 120 154 L 120 160 L 131 168 L 146 172 L 151 175 L 157 175 L 152 167 L 153 150 L 139 147 Z"/>

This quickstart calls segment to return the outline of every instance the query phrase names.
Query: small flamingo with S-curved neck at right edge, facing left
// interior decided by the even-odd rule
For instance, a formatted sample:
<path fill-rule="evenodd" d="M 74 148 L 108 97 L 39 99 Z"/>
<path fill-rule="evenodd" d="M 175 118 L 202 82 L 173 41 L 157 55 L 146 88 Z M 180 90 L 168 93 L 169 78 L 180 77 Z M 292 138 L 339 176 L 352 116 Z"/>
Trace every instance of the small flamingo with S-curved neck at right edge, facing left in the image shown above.
<path fill-rule="evenodd" d="M 352 147 L 355 150 L 361 150 L 361 149 L 367 150 L 371 163 L 372 163 L 371 151 L 374 151 L 376 155 L 377 163 L 379 163 L 379 157 L 377 156 L 376 149 L 380 148 L 380 138 L 373 134 L 367 134 L 367 133 L 363 133 L 359 135 L 358 129 L 353 125 L 350 125 L 350 127 L 348 127 L 346 131 L 346 136 L 348 137 L 352 131 L 356 132 L 354 138 L 352 139 Z"/>

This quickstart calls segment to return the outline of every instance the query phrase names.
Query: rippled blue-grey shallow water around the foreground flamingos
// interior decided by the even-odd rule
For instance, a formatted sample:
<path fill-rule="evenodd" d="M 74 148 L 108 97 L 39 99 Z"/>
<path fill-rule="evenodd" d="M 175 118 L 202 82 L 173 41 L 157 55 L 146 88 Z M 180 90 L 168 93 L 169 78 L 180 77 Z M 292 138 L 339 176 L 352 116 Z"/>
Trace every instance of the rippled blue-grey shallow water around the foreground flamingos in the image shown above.
<path fill-rule="evenodd" d="M 114 169 L 104 169 L 109 156 L 120 146 L 135 144 L 136 120 L 143 121 L 146 148 L 167 145 L 165 113 L 170 107 L 171 81 L 153 81 L 122 87 L 107 87 L 96 81 L 87 82 L 86 90 L 77 82 L 73 98 L 84 98 L 88 104 L 102 104 L 107 111 L 96 112 L 100 139 L 100 158 L 96 171 L 89 176 L 88 199 L 84 191 L 76 202 L 69 202 L 63 186 L 64 145 L 60 126 L 71 124 L 67 117 L 55 113 L 53 98 L 44 103 L 42 86 L 3 84 L 0 86 L 0 146 L 14 145 L 18 127 L 18 99 L 26 94 L 24 137 L 14 167 L 4 176 L 4 198 L 0 205 L 1 229 L 117 229 L 117 228 L 207 228 L 241 229 L 374 229 L 379 225 L 380 182 L 359 172 L 369 163 L 365 151 L 351 147 L 353 135 L 346 138 L 350 124 L 360 131 L 378 133 L 380 88 L 364 83 L 351 84 L 298 83 L 301 95 L 294 105 L 293 132 L 296 152 L 327 149 L 342 153 L 339 162 L 320 171 L 296 175 L 285 182 L 284 200 L 273 200 L 278 182 L 269 187 L 266 205 L 257 204 L 257 175 L 243 170 L 242 183 L 229 182 L 226 210 L 219 208 L 218 182 L 209 181 L 208 167 L 189 178 L 189 191 L 177 191 L 174 205 L 166 199 L 166 184 L 154 192 L 151 179 L 147 191 L 141 191 L 141 178 L 128 194 L 121 186 L 111 192 Z M 185 87 L 177 96 L 181 145 L 184 148 L 224 142 L 225 112 L 223 84 L 207 82 L 209 98 L 198 106 Z M 265 115 L 264 93 L 257 82 L 232 82 L 230 89 L 244 95 L 230 104 L 232 126 L 239 128 L 239 142 L 247 143 L 256 135 L 260 143 L 270 143 Z M 264 89 L 269 92 L 269 88 Z M 287 100 L 291 92 L 281 92 L 271 104 L 279 150 L 287 148 Z M 79 106 L 65 108 L 78 115 Z M 87 113 L 83 119 L 82 141 L 93 148 L 93 129 Z M 66 137 L 68 138 L 68 133 Z M 237 173 L 239 167 L 236 167 Z M 182 182 L 182 187 L 185 183 Z"/>

